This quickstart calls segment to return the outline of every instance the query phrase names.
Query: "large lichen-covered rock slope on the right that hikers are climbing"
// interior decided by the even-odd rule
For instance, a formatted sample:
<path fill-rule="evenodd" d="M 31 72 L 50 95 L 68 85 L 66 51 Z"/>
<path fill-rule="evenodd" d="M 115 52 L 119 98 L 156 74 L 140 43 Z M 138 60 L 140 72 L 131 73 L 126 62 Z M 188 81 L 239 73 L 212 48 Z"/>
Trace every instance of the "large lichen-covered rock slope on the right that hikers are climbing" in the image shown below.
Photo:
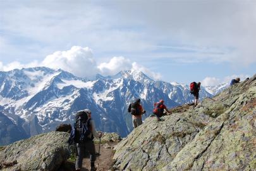
<path fill-rule="evenodd" d="M 256 75 L 196 108 L 147 118 L 115 146 L 114 170 L 255 170 Z M 176 112 L 175 112 L 176 111 Z"/>

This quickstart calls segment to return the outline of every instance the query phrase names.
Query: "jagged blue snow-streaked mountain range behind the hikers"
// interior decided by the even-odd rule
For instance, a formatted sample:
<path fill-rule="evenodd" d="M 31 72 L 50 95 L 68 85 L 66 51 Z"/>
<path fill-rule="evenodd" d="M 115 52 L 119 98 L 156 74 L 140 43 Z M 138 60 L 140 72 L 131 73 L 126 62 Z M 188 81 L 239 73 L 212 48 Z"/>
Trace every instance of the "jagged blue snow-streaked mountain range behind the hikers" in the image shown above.
<path fill-rule="evenodd" d="M 202 87 L 200 99 L 212 96 L 207 91 Z M 11 119 L 0 124 L 0 135 L 7 131 L 2 127 L 9 124 L 15 124 L 22 137 L 55 130 L 60 123 L 73 123 L 76 111 L 89 108 L 97 130 L 126 136 L 132 130 L 127 107 L 136 98 L 147 111 L 143 118 L 151 114 L 152 104 L 159 99 L 164 99 L 168 108 L 193 100 L 188 85 L 154 81 L 137 71 L 97 75 L 95 80 L 47 67 L 0 72 L 0 111 Z"/>

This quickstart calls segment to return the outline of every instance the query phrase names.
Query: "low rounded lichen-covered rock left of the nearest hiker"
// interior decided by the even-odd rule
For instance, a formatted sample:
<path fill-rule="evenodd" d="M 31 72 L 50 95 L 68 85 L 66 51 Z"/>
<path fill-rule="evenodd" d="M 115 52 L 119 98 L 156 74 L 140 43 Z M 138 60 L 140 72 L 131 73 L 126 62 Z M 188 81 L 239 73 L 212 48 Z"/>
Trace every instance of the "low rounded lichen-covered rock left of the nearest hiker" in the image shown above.
<path fill-rule="evenodd" d="M 70 155 L 70 134 L 51 132 L 0 149 L 0 170 L 58 170 Z"/>

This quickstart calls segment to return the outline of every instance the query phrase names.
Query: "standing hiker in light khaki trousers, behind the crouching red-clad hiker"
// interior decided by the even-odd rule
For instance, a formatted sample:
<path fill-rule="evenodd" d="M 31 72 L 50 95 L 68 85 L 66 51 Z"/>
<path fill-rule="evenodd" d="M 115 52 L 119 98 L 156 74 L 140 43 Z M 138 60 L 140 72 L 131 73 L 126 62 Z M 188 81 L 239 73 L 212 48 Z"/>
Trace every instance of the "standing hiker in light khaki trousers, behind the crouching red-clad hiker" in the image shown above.
<path fill-rule="evenodd" d="M 140 104 L 140 99 L 137 99 L 135 102 L 129 104 L 128 112 L 132 115 L 133 128 L 140 126 L 142 124 L 142 114 L 146 113 Z"/>

